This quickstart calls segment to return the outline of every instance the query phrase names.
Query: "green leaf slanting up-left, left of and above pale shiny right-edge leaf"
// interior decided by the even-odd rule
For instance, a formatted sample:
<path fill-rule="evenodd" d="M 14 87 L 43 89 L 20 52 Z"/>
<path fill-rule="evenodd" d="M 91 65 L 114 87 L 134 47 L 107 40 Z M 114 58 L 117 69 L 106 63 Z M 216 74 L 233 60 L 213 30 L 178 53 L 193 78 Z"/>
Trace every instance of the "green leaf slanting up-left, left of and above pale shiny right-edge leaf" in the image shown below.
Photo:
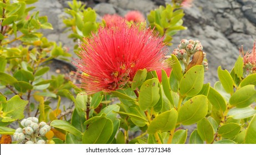
<path fill-rule="evenodd" d="M 226 111 L 226 100 L 212 87 L 209 89 L 207 99 L 214 107 L 217 108 L 217 110 L 222 110 L 223 112 Z"/>

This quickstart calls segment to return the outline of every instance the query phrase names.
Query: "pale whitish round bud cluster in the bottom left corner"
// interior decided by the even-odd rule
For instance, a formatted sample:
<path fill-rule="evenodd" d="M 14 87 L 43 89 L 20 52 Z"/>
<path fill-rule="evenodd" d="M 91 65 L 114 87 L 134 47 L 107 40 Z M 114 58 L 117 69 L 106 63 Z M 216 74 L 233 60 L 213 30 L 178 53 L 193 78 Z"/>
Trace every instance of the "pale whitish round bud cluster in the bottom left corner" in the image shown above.
<path fill-rule="evenodd" d="M 13 134 L 16 141 L 24 141 L 25 144 L 45 144 L 43 139 L 38 139 L 50 131 L 50 126 L 45 122 L 38 124 L 38 118 L 29 117 L 21 121 L 23 128 L 19 127 Z"/>

